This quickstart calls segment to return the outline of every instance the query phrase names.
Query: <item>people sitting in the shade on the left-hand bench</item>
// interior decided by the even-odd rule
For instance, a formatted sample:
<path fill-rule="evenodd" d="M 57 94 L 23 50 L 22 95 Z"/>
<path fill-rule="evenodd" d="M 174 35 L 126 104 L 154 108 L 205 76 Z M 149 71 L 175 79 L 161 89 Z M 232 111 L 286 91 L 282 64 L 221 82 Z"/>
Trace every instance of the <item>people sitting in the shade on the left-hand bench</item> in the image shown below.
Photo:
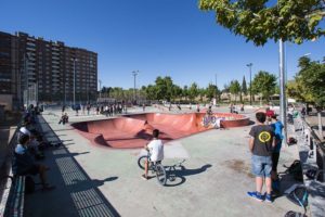
<path fill-rule="evenodd" d="M 23 125 L 17 133 L 17 144 L 14 149 L 13 173 L 15 176 L 39 175 L 42 190 L 53 190 L 55 187 L 48 183 L 47 170 L 49 167 L 37 163 L 43 159 L 43 151 L 48 143 L 42 133 L 36 129 L 36 113 L 29 106 L 23 115 Z"/>

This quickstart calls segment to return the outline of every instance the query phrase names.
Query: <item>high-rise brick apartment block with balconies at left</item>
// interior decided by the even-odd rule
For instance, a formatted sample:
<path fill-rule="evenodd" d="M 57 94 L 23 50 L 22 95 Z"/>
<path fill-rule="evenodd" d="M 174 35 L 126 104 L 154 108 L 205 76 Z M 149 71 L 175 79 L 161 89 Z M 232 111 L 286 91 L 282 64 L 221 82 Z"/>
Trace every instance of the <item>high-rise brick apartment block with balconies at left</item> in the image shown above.
<path fill-rule="evenodd" d="M 11 98 L 16 106 L 79 103 L 94 101 L 96 90 L 95 52 L 25 33 L 0 31 L 0 101 Z"/>

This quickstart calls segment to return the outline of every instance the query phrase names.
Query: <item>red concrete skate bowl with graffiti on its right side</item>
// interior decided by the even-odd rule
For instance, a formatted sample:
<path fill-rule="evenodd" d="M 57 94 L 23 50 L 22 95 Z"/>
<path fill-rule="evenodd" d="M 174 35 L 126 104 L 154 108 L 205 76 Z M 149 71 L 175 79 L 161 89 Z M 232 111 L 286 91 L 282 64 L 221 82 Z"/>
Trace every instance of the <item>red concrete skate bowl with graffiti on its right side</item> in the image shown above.
<path fill-rule="evenodd" d="M 219 123 L 225 128 L 249 125 L 249 118 L 244 115 L 216 113 L 213 117 L 214 120 L 219 119 Z M 209 124 L 209 119 L 204 113 L 146 113 L 75 123 L 72 126 L 91 143 L 116 149 L 143 148 L 152 139 L 155 128 L 160 130 L 159 138 L 166 143 L 216 127 Z"/>

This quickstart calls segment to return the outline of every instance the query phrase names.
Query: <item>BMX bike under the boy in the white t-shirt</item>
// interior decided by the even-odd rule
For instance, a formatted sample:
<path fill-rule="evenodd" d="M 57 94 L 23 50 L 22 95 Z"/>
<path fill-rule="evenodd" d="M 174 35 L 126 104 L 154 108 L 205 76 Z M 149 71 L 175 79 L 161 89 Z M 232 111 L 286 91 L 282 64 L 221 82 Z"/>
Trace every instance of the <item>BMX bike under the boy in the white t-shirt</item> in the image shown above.
<path fill-rule="evenodd" d="M 167 181 L 167 175 L 164 166 L 161 165 L 161 161 L 152 162 L 151 154 L 150 152 L 147 152 L 147 155 L 140 156 L 138 159 L 138 165 L 141 169 L 144 169 L 145 161 L 148 162 L 148 171 L 152 171 L 152 174 L 156 174 L 158 183 L 165 186 Z"/>

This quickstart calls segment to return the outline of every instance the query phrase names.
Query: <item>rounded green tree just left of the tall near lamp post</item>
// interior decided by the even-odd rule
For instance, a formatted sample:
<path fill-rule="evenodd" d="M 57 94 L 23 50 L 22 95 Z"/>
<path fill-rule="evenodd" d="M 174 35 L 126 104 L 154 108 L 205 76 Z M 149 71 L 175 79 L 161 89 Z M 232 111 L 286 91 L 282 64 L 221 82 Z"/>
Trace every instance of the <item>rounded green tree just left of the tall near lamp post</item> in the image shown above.
<path fill-rule="evenodd" d="M 264 71 L 260 71 L 251 82 L 251 91 L 253 93 L 260 93 L 268 101 L 270 95 L 275 93 L 276 77 Z"/>

